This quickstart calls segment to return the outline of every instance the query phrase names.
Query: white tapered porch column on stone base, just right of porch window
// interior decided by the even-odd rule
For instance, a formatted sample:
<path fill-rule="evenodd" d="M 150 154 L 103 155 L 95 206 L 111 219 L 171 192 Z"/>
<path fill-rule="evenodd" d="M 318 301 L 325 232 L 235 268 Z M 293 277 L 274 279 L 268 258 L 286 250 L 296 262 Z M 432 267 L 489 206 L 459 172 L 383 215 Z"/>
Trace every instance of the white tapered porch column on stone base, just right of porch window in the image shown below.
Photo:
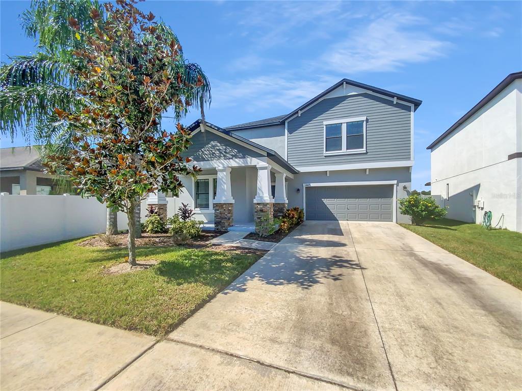
<path fill-rule="evenodd" d="M 213 200 L 214 229 L 226 231 L 234 225 L 234 199 L 230 185 L 230 167 L 217 167 L 218 180 L 216 198 Z"/>

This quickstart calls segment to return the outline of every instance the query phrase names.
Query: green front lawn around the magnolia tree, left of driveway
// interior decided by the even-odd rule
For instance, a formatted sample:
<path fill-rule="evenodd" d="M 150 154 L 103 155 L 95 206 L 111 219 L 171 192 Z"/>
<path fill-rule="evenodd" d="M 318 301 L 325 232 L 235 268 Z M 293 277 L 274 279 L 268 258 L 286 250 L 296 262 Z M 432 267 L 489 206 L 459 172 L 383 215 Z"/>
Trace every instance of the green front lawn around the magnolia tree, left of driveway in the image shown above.
<path fill-rule="evenodd" d="M 148 270 L 103 275 L 124 248 L 76 246 L 81 240 L 2 254 L 2 300 L 77 319 L 163 336 L 258 258 L 183 247 L 138 248 Z M 76 282 L 73 282 L 76 280 Z"/>

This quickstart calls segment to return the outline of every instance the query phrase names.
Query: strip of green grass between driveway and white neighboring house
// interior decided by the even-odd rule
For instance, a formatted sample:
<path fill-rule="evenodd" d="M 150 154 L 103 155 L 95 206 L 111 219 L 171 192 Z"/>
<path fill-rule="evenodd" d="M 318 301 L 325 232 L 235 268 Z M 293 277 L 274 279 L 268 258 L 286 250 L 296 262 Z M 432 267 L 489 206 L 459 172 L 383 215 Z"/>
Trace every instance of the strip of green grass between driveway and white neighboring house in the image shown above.
<path fill-rule="evenodd" d="M 522 234 L 488 231 L 478 224 L 446 218 L 424 226 L 402 225 L 482 270 L 522 289 Z"/>

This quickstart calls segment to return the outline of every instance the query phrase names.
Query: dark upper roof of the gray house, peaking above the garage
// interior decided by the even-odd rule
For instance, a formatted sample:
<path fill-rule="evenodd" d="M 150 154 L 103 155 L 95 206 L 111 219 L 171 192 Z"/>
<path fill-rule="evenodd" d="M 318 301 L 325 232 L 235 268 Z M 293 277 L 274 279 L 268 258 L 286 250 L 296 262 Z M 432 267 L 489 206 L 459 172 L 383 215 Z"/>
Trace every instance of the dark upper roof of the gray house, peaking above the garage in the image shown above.
<path fill-rule="evenodd" d="M 353 85 L 354 87 L 359 87 L 359 88 L 362 88 L 364 90 L 375 92 L 377 94 L 385 95 L 385 96 L 388 96 L 390 98 L 397 97 L 397 99 L 399 99 L 401 101 L 404 101 L 404 102 L 407 102 L 407 103 L 411 103 L 413 105 L 413 111 L 416 111 L 417 108 L 419 108 L 419 106 L 422 104 L 422 101 L 420 101 L 418 99 L 413 99 L 412 97 L 409 97 L 409 96 L 406 96 L 406 95 L 397 94 L 397 93 L 392 92 L 392 91 L 383 90 L 382 88 L 373 87 L 372 85 L 359 83 L 358 81 L 354 81 L 354 80 L 350 80 L 350 79 L 341 79 L 337 83 L 332 85 L 330 88 L 328 88 L 327 90 L 325 90 L 325 91 L 321 92 L 320 94 L 314 96 L 310 101 L 302 104 L 301 106 L 299 106 L 298 108 L 296 108 L 295 110 L 290 112 L 289 114 L 280 115 L 280 116 L 277 116 L 277 117 L 270 117 L 270 118 L 260 119 L 258 121 L 247 122 L 247 123 L 239 124 L 239 125 L 228 126 L 225 129 L 228 129 L 228 130 L 253 129 L 253 128 L 258 128 L 258 127 L 263 127 L 263 126 L 273 126 L 273 125 L 284 124 L 284 121 L 286 121 L 288 118 L 290 118 L 293 115 L 299 113 L 300 110 L 303 110 L 305 107 L 311 105 L 312 103 L 315 103 L 316 101 L 318 101 L 322 97 L 326 96 L 330 92 L 334 91 L 336 88 L 341 87 L 341 85 L 343 85 L 345 83 L 349 84 L 349 85 Z"/>

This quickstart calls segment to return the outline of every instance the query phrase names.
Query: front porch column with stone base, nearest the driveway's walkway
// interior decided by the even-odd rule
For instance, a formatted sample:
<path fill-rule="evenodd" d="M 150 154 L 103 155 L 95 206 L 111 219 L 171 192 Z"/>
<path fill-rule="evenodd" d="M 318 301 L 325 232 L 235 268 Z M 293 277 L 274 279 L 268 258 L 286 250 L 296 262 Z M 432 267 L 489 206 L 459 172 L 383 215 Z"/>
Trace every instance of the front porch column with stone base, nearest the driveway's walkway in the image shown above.
<path fill-rule="evenodd" d="M 254 223 L 256 233 L 268 235 L 268 229 L 274 223 L 274 199 L 271 194 L 270 165 L 257 166 L 257 193 L 254 198 Z"/>

